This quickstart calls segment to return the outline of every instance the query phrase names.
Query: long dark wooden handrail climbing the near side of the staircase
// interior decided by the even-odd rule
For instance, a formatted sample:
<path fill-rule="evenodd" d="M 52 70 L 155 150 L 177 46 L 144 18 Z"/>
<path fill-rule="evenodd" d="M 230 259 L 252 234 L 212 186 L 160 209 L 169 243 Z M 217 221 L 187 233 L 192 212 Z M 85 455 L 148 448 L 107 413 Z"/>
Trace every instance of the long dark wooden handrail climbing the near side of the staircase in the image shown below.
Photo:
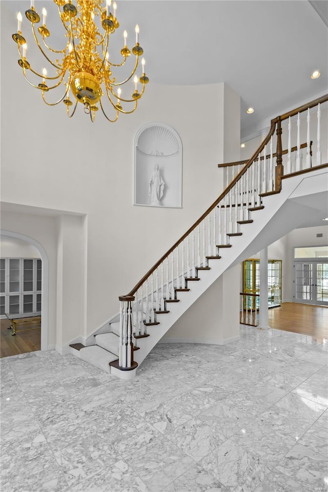
<path fill-rule="evenodd" d="M 186 239 L 187 236 L 189 236 L 189 234 L 200 224 L 200 222 L 218 205 L 218 203 L 229 193 L 229 191 L 235 186 L 235 184 L 237 183 L 237 181 L 239 181 L 239 179 L 241 178 L 241 176 L 248 170 L 248 168 L 252 165 L 252 163 L 254 162 L 254 160 L 258 157 L 258 155 L 262 152 L 262 150 L 264 149 L 264 146 L 266 146 L 268 144 L 268 142 L 270 141 L 270 138 L 272 137 L 272 135 L 274 134 L 275 132 L 275 129 L 276 129 L 276 126 L 278 124 L 278 132 L 279 132 L 279 135 L 277 135 L 277 137 L 281 137 L 280 135 L 280 131 L 281 131 L 281 121 L 288 118 L 289 116 L 294 116 L 296 115 L 297 113 L 299 112 L 302 112 L 308 108 L 313 108 L 314 106 L 316 106 L 318 103 L 324 103 L 326 100 L 328 100 L 328 94 L 326 94 L 325 96 L 322 96 L 322 97 L 319 97 L 317 99 L 315 99 L 314 101 L 311 101 L 310 103 L 308 104 L 305 104 L 303 106 L 300 106 L 299 108 L 297 108 L 296 110 L 293 110 L 293 111 L 290 111 L 289 113 L 285 113 L 283 114 L 282 116 L 277 116 L 276 118 L 273 118 L 271 120 L 271 127 L 270 127 L 270 130 L 269 130 L 269 133 L 268 135 L 264 138 L 264 140 L 261 142 L 260 146 L 258 147 L 258 149 L 254 152 L 254 154 L 252 155 L 252 157 L 245 163 L 245 166 L 241 169 L 241 171 L 239 171 L 239 173 L 234 177 L 234 179 L 231 181 L 231 183 L 228 185 L 228 187 L 220 194 L 220 196 L 212 203 L 212 205 L 206 210 L 206 212 L 204 212 L 198 220 L 196 220 L 196 222 L 188 229 L 188 231 L 183 234 L 180 239 L 178 239 L 174 244 L 173 246 L 165 253 L 163 254 L 160 259 L 153 265 L 153 267 L 148 270 L 148 272 L 146 273 L 146 275 L 144 275 L 141 280 L 139 280 L 139 282 L 134 286 L 134 288 L 129 292 L 129 294 L 125 295 L 125 296 L 119 296 L 119 299 L 121 301 L 125 301 L 125 300 L 132 300 L 132 299 L 127 299 L 127 298 L 132 298 L 134 299 L 134 294 L 137 292 L 137 290 L 141 287 L 141 285 L 152 275 L 152 273 L 159 267 L 159 265 L 163 262 L 163 260 L 165 260 L 174 250 L 175 248 L 177 248 L 177 246 L 184 240 Z M 279 138 L 278 138 L 279 140 Z M 282 175 L 282 158 L 281 158 L 281 155 L 282 155 L 282 149 L 281 149 L 281 140 L 280 140 L 280 145 L 279 147 L 277 147 L 277 165 L 278 165 L 278 168 L 279 168 L 279 172 L 278 172 L 278 175 L 276 175 L 276 183 L 278 182 L 278 185 L 281 181 L 281 175 Z M 278 162 L 279 161 L 279 162 Z M 242 163 L 242 162 L 241 162 Z M 276 171 L 277 171 L 277 167 L 276 167 Z M 278 186 L 279 188 L 279 186 Z"/>

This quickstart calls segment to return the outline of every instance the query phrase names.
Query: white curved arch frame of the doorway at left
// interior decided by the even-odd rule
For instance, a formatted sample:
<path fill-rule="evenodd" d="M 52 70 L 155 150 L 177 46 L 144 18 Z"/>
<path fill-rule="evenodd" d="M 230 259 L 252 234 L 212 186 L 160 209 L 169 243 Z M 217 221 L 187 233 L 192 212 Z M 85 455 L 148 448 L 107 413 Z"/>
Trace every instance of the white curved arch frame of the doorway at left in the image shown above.
<path fill-rule="evenodd" d="M 20 239 L 32 244 L 39 252 L 42 260 L 42 306 L 41 306 L 41 350 L 48 349 L 49 338 L 49 259 L 43 246 L 35 239 L 12 231 L 0 231 L 1 237 Z"/>

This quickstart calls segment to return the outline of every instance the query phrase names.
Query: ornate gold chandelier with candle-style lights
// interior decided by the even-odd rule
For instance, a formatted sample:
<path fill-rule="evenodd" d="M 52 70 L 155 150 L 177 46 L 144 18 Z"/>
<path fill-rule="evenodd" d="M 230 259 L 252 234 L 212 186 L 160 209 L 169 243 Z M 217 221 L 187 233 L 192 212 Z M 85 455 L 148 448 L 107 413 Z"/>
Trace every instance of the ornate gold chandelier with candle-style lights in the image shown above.
<path fill-rule="evenodd" d="M 26 39 L 21 32 L 23 18 L 22 14 L 18 12 L 17 32 L 12 37 L 18 45 L 18 64 L 22 67 L 24 77 L 32 87 L 42 91 L 42 98 L 48 106 L 55 106 L 63 101 L 67 108 L 67 115 L 70 118 L 75 113 L 77 103 L 82 103 L 84 112 L 90 114 L 92 121 L 94 121 L 95 113 L 100 107 L 105 117 L 114 122 L 117 120 L 119 113 L 130 114 L 136 110 L 138 100 L 144 94 L 145 85 L 149 82 L 149 78 L 145 73 L 144 58 L 141 60 L 142 75 L 140 77 L 136 75 L 139 57 L 144 52 L 139 45 L 138 25 L 135 27 L 136 38 L 135 45 L 132 48 L 132 53 L 135 55 L 132 72 L 122 81 L 117 81 L 112 73 L 112 71 L 118 70 L 119 67 L 125 65 L 131 55 L 131 51 L 127 46 L 127 31 L 124 31 L 124 47 L 120 50 L 123 60 L 119 64 L 114 64 L 109 59 L 110 35 L 119 27 L 116 18 L 117 5 L 114 2 L 112 6 L 111 1 L 106 0 L 105 7 L 103 7 L 103 0 L 76 0 L 77 6 L 72 3 L 72 0 L 53 0 L 57 4 L 59 17 L 61 23 L 63 23 L 67 38 L 66 47 L 63 50 L 55 50 L 50 48 L 47 43 L 47 38 L 50 36 L 50 31 L 47 28 L 47 11 L 43 9 L 42 25 L 36 29 L 35 26 L 40 22 L 40 16 L 35 10 L 34 0 L 31 0 L 31 7 L 25 14 L 31 23 L 35 43 L 51 66 L 53 72 L 51 74 L 48 74 L 45 68 L 40 74 L 31 67 L 26 57 Z M 97 25 L 97 18 L 101 28 Z M 41 37 L 42 40 L 40 39 Z M 45 48 L 48 50 L 47 52 Z M 51 54 L 55 57 L 54 60 L 50 59 Z M 33 73 L 34 76 L 39 77 L 42 81 L 34 84 L 27 77 L 27 73 Z M 131 98 L 130 96 L 124 98 L 121 95 L 121 86 L 129 81 L 131 83 L 132 78 L 134 92 L 132 92 Z M 62 96 L 59 100 L 53 103 L 48 102 L 46 93 L 58 88 L 61 84 L 64 86 L 64 94 L 61 93 Z M 75 98 L 75 104 L 70 99 L 70 92 L 74 96 L 73 100 Z M 107 95 L 113 108 L 113 119 L 109 118 L 105 113 L 101 102 L 101 97 L 104 95 Z M 71 106 L 74 107 L 71 108 Z M 124 109 L 124 107 L 127 109 Z"/>

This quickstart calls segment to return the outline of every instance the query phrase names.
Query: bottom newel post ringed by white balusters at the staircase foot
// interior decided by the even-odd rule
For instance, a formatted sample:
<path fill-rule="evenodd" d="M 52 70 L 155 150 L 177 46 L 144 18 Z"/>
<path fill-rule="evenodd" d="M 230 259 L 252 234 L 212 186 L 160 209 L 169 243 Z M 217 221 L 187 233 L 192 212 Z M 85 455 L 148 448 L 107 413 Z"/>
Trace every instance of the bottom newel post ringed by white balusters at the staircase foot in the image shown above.
<path fill-rule="evenodd" d="M 133 301 L 134 296 L 120 296 L 118 365 L 124 370 L 132 368 L 133 361 Z"/>

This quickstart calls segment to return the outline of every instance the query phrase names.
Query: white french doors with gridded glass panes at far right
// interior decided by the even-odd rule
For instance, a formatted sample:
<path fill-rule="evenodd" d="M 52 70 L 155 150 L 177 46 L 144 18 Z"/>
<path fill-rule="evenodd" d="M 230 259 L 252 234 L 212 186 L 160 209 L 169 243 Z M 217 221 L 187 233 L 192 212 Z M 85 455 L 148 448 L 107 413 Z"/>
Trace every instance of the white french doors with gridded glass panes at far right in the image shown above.
<path fill-rule="evenodd" d="M 294 261 L 294 301 L 328 305 L 328 261 Z"/>

